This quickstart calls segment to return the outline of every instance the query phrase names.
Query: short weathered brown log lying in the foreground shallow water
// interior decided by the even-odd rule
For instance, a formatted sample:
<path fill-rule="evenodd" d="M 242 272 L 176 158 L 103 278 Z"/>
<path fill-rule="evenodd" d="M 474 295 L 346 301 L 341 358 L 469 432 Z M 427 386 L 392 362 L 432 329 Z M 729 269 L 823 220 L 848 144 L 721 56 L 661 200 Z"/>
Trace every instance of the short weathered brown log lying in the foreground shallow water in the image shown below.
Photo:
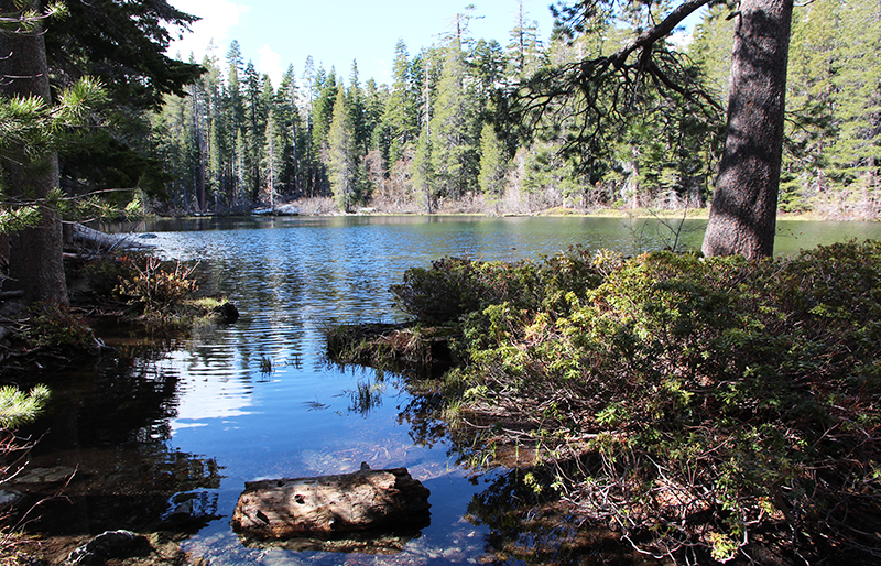
<path fill-rule="evenodd" d="M 428 524 L 431 491 L 406 468 L 251 481 L 232 513 L 232 526 L 262 538 L 322 537 L 338 533 Z"/>

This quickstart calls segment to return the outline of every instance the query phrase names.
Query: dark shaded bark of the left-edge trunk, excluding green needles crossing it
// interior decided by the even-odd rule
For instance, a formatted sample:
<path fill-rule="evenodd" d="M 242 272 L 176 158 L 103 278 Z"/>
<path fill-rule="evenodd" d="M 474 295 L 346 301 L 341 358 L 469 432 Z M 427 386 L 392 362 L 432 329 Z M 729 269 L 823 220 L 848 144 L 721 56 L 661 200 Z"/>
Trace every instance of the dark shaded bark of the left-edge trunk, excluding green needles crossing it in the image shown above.
<path fill-rule="evenodd" d="M 4 17 L 21 13 L 13 0 L 0 0 Z M 39 9 L 39 2 L 22 9 Z M 42 26 L 30 32 L 0 33 L 0 91 L 7 97 L 36 96 L 51 104 L 48 65 Z M 62 261 L 62 221 L 45 198 L 58 186 L 58 156 L 54 152 L 30 163 L 3 164 L 13 198 L 31 200 L 40 207 L 39 224 L 10 238 L 9 272 L 13 284 L 24 290 L 29 302 L 68 304 Z"/>

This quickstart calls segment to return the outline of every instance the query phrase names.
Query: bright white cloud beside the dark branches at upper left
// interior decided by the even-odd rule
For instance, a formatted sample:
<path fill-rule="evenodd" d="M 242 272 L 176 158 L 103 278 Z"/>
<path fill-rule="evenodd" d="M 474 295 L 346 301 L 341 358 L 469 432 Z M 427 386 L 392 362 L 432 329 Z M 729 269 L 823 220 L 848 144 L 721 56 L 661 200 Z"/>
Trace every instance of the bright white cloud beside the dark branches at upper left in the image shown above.
<path fill-rule="evenodd" d="M 247 4 L 237 4 L 229 0 L 172 0 L 171 3 L 178 10 L 202 19 L 192 25 L 192 33 L 184 32 L 181 40 L 173 41 L 167 53 L 173 57 L 180 54 L 184 61 L 192 53 L 197 62 L 202 62 L 211 43 L 220 48 L 219 58 L 222 61 L 230 30 L 250 9 Z"/>

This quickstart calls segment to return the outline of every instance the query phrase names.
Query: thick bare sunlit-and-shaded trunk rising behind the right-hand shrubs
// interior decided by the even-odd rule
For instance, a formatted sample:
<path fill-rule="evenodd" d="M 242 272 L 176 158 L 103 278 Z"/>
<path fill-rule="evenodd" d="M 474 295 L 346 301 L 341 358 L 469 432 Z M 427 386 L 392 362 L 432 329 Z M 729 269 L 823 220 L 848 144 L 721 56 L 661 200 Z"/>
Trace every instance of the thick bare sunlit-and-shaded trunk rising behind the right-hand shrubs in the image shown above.
<path fill-rule="evenodd" d="M 792 0 L 741 0 L 728 127 L 703 251 L 774 252 Z"/>

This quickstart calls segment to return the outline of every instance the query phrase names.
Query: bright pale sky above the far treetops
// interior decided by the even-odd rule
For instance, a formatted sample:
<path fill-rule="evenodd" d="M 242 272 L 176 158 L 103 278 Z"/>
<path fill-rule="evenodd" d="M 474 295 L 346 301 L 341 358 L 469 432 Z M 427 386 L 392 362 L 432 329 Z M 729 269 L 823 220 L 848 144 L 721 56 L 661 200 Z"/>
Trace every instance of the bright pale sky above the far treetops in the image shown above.
<path fill-rule="evenodd" d="M 348 80 L 351 62 L 358 63 L 361 84 L 368 78 L 390 83 L 394 46 L 404 40 L 410 56 L 453 29 L 456 13 L 464 13 L 468 0 L 170 0 L 175 8 L 203 18 L 193 33 L 168 50 L 183 59 L 191 52 L 202 61 L 211 41 L 215 56 L 225 64 L 232 40 L 241 45 L 244 62 L 253 62 L 278 87 L 279 78 L 294 65 L 297 78 L 306 56 L 325 69 L 335 66 Z M 470 24 L 476 39 L 508 43 L 514 26 L 516 0 L 475 0 Z M 551 0 L 524 0 L 527 18 L 539 22 L 543 40 L 551 34 Z"/>

